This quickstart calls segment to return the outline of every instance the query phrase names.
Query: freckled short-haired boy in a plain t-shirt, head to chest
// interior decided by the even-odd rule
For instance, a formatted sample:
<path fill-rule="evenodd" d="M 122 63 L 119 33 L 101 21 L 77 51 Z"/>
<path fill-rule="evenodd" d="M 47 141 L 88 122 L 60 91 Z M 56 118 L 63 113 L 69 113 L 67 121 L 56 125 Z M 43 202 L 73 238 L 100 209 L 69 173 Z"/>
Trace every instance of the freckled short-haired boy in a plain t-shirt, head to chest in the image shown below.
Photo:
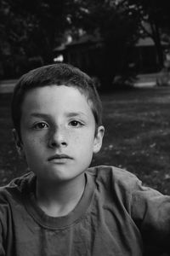
<path fill-rule="evenodd" d="M 31 172 L 0 190 L 0 255 L 170 253 L 170 197 L 132 173 L 88 168 L 104 136 L 88 75 L 66 64 L 26 73 L 12 118 Z"/>

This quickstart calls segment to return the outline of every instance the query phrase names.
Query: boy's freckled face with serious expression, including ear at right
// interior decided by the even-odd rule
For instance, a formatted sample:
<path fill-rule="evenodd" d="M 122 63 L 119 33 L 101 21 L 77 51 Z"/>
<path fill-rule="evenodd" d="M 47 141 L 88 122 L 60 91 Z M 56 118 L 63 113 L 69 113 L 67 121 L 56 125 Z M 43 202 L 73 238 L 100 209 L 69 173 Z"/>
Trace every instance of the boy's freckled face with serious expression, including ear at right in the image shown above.
<path fill-rule="evenodd" d="M 102 145 L 94 114 L 74 87 L 52 85 L 27 92 L 21 108 L 21 147 L 39 180 L 69 181 L 89 166 Z"/>

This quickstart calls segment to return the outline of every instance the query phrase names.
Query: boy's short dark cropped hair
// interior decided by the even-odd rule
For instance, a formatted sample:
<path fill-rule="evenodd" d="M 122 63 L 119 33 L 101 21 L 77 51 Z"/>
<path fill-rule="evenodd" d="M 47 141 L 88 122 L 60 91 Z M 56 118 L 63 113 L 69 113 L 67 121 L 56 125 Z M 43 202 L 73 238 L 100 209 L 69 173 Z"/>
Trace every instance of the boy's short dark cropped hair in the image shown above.
<path fill-rule="evenodd" d="M 48 85 L 66 85 L 76 87 L 87 97 L 97 127 L 102 124 L 102 106 L 99 94 L 95 89 L 94 82 L 86 73 L 77 67 L 65 63 L 58 63 L 39 67 L 24 74 L 14 87 L 14 94 L 11 104 L 11 113 L 14 128 L 20 136 L 21 106 L 26 96 L 26 92 Z M 20 137 L 21 138 L 21 137 Z"/>

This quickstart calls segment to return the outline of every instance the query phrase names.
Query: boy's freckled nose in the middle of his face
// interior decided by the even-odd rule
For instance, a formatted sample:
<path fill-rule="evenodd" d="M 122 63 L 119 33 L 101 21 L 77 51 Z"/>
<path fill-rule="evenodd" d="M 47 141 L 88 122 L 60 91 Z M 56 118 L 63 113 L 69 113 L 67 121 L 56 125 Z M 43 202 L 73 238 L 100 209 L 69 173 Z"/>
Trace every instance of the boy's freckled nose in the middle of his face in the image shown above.
<path fill-rule="evenodd" d="M 50 131 L 50 134 L 48 137 L 48 146 L 50 148 L 67 146 L 65 132 L 63 131 L 62 128 L 57 128 L 54 131 Z"/>

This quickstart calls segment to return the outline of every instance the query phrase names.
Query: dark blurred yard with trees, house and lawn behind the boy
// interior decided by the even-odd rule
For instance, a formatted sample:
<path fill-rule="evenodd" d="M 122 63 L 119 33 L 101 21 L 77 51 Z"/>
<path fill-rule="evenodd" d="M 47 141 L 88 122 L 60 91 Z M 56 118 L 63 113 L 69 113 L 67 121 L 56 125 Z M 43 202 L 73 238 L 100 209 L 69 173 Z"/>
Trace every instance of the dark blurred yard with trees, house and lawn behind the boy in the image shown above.
<path fill-rule="evenodd" d="M 104 147 L 119 166 L 170 194 L 170 1 L 1 0 L 0 184 L 26 171 L 10 100 L 20 75 L 57 62 L 88 73 L 104 104 Z"/>

